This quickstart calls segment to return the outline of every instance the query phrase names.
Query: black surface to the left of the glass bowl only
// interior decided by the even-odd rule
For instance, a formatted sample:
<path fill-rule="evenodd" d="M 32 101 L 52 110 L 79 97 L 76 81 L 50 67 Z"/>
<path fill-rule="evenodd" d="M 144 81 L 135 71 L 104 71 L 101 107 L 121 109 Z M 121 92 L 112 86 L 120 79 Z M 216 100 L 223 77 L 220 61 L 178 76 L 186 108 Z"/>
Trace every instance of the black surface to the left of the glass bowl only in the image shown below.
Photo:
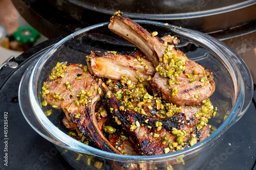
<path fill-rule="evenodd" d="M 32 61 L 60 39 L 62 37 L 56 37 L 30 48 L 17 57 L 15 61 L 19 66 L 15 70 L 5 67 L 0 72 L 1 169 L 72 169 L 54 145 L 29 126 L 18 104 L 18 86 L 24 72 Z"/>

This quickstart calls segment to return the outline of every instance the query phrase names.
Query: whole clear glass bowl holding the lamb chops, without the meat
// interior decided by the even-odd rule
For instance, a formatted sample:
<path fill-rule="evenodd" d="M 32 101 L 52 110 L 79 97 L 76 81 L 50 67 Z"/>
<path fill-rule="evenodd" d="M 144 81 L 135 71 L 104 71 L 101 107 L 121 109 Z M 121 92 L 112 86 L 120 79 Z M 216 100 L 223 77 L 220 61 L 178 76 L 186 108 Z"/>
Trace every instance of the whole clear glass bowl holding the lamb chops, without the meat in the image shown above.
<path fill-rule="evenodd" d="M 48 107 L 41 107 L 40 94 L 57 62 L 86 64 L 91 51 L 133 51 L 135 46 L 108 29 L 108 22 L 81 29 L 56 43 L 47 53 L 37 58 L 26 70 L 19 85 L 19 105 L 30 126 L 42 137 L 55 144 L 62 156 L 75 169 L 111 169 L 118 163 L 123 169 L 196 169 L 218 147 L 224 132 L 236 123 L 248 109 L 253 85 L 249 70 L 243 60 L 227 45 L 206 34 L 155 21 L 135 20 L 149 32 L 158 36 L 173 35 L 181 42 L 178 47 L 186 56 L 214 74 L 216 91 L 210 96 L 214 107 L 218 107 L 212 125 L 211 135 L 205 140 L 184 150 L 156 155 L 131 156 L 105 152 L 83 144 L 68 136 L 62 125 L 62 110 L 53 109 L 46 116 Z M 172 162 L 179 162 L 172 165 Z"/>

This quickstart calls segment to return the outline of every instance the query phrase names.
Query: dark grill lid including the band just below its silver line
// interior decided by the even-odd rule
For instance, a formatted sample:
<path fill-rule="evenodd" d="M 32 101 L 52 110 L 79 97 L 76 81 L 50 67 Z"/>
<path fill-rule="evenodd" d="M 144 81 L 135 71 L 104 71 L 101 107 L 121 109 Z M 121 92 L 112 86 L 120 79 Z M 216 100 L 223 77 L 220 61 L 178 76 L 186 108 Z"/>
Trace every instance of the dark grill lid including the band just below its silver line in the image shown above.
<path fill-rule="evenodd" d="M 255 0 L 186 0 L 186 1 L 83 1 L 83 0 L 48 0 L 60 11 L 80 22 L 105 18 L 108 20 L 117 10 L 133 19 L 146 19 L 168 22 L 201 32 L 212 32 L 242 25 L 256 19 Z"/>

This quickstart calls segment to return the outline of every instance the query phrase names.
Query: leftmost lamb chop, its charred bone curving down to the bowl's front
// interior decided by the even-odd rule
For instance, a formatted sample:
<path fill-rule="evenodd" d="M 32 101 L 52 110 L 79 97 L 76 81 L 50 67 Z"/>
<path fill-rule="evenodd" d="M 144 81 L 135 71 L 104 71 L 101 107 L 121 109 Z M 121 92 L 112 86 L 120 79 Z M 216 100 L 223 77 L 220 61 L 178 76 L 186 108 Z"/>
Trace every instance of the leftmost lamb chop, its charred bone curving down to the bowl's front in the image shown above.
<path fill-rule="evenodd" d="M 101 86 L 101 79 L 97 81 L 89 71 L 84 71 L 82 64 L 57 64 L 52 72 L 42 93 L 47 103 L 61 108 L 67 118 L 65 122 L 75 124 L 97 147 L 119 154 L 101 132 L 95 117 L 95 105 L 100 99 L 97 89 Z"/>

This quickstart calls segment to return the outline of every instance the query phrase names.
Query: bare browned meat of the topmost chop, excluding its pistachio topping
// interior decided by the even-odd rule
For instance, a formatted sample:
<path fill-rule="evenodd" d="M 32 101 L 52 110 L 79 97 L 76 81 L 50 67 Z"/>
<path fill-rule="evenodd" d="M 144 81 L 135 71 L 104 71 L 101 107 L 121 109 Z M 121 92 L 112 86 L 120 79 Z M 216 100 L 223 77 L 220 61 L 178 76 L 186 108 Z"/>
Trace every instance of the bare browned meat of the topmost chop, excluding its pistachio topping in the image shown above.
<path fill-rule="evenodd" d="M 195 81 L 190 83 L 186 74 L 193 74 L 193 70 L 197 69 L 202 77 L 207 77 L 205 74 L 205 69 L 194 61 L 186 61 L 186 71 L 179 75 L 177 81 L 181 84 L 173 84 L 171 86 L 166 86 L 168 84 L 168 79 L 161 77 L 159 72 L 156 72 L 154 78 L 151 80 L 153 88 L 158 89 L 161 92 L 162 98 L 171 103 L 177 105 L 195 105 L 203 100 L 209 98 L 209 96 L 215 91 L 215 82 L 213 81 L 213 75 L 210 73 L 212 78 L 209 82 L 201 82 L 201 77 L 194 77 Z M 209 70 L 209 69 L 208 69 Z M 177 94 L 172 95 L 173 88 L 177 88 Z"/>

